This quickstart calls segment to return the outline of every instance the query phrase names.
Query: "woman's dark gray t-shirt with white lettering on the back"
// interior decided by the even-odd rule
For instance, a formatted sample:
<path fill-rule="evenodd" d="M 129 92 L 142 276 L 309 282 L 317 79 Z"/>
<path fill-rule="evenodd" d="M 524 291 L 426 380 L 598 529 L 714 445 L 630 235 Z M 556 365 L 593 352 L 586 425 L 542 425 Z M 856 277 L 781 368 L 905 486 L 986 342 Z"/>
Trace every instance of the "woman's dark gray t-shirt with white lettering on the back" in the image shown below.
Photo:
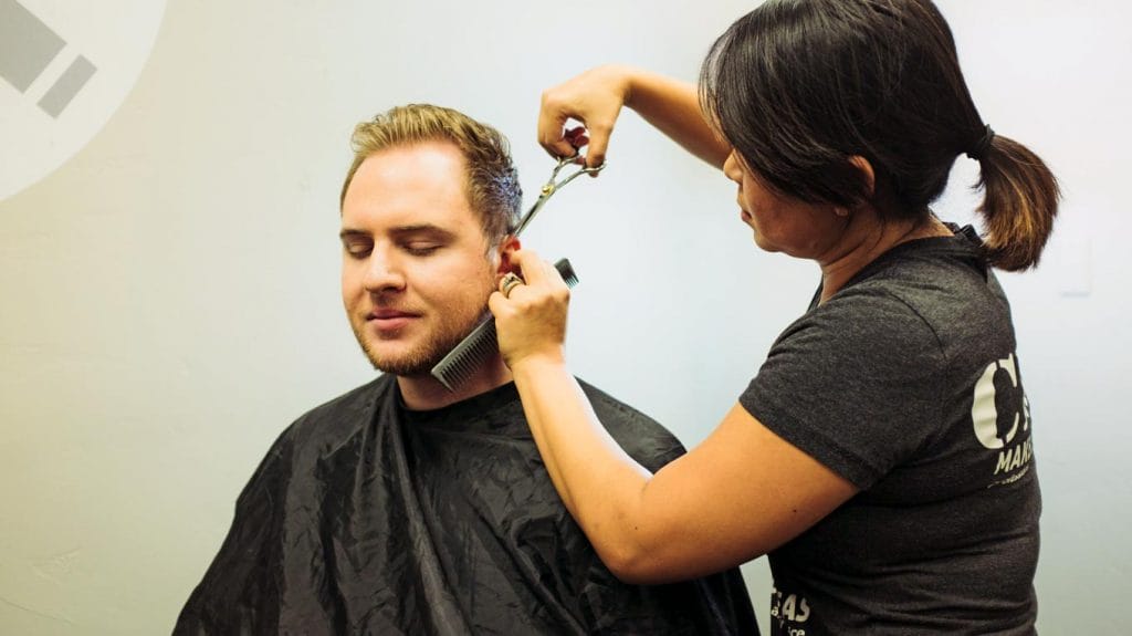
<path fill-rule="evenodd" d="M 898 246 L 739 401 L 861 492 L 770 556 L 771 634 L 1032 634 L 1041 498 L 1010 306 L 969 229 Z"/>

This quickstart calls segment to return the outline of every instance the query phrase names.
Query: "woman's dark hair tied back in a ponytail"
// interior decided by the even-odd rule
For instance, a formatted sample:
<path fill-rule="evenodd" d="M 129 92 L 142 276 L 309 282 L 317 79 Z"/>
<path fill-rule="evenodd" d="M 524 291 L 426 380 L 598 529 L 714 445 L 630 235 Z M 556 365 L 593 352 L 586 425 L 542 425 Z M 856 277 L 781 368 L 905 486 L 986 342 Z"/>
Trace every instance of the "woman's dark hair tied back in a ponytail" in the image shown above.
<path fill-rule="evenodd" d="M 807 201 L 864 200 L 921 220 L 955 157 L 978 158 L 987 259 L 1037 264 L 1060 191 L 1045 163 L 979 117 L 946 20 L 929 0 L 770 0 L 715 41 L 704 112 L 770 187 Z M 850 162 L 868 160 L 876 191 Z M 875 198 L 874 198 L 875 197 Z"/>

